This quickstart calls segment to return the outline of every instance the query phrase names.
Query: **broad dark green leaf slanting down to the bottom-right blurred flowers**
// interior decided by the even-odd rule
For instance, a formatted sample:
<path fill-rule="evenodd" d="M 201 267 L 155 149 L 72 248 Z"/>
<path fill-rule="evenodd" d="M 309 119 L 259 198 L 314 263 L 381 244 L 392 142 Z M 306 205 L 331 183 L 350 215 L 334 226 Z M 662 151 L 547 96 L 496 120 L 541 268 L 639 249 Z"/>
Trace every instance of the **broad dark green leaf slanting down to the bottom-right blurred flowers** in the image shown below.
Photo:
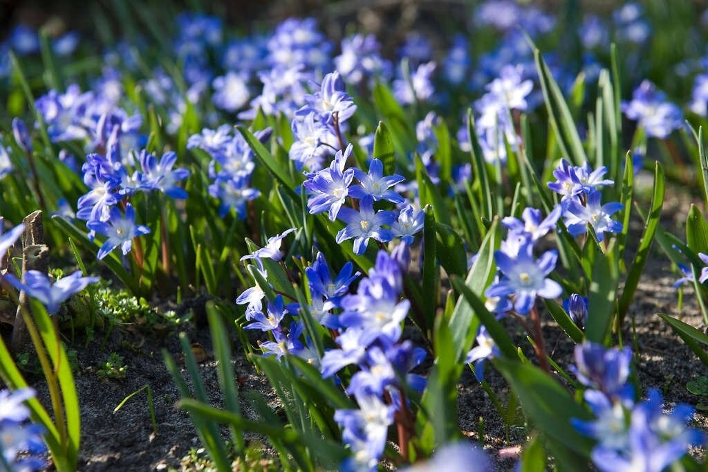
<path fill-rule="evenodd" d="M 576 432 L 571 418 L 590 420 L 592 416 L 573 401 L 560 383 L 532 364 L 501 358 L 492 359 L 492 363 L 518 395 L 524 412 L 535 427 L 578 454 L 590 454 L 593 440 Z"/>

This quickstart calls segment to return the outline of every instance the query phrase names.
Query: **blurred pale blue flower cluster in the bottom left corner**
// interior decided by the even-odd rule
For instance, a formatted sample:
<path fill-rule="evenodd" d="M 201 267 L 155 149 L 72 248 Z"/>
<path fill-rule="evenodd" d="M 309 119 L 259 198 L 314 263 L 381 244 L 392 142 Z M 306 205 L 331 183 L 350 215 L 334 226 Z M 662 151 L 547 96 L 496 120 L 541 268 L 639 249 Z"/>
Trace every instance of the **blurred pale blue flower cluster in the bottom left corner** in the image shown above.
<path fill-rule="evenodd" d="M 31 388 L 0 390 L 0 467 L 4 471 L 40 471 L 47 466 L 40 459 L 47 450 L 42 441 L 45 429 L 30 422 L 30 410 L 23 405 L 34 396 Z"/>

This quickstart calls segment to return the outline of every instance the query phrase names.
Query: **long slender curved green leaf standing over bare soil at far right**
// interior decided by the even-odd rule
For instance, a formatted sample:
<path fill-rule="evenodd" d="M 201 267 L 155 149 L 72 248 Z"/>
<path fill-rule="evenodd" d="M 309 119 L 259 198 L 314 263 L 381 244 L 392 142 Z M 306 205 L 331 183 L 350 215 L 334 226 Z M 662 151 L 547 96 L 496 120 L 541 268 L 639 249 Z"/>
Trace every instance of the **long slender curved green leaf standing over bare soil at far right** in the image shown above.
<path fill-rule="evenodd" d="M 641 277 L 642 271 L 644 271 L 646 259 L 649 257 L 651 243 L 654 240 L 656 228 L 658 227 L 659 219 L 661 218 L 661 208 L 663 208 L 664 199 L 664 184 L 665 179 L 663 167 L 661 167 L 661 164 L 657 161 L 656 167 L 654 168 L 654 193 L 651 197 L 651 210 L 649 213 L 649 218 L 647 218 L 646 225 L 644 225 L 644 233 L 642 233 L 641 240 L 639 241 L 639 249 L 636 250 L 634 261 L 632 262 L 632 266 L 629 268 L 627 281 L 625 281 L 624 289 L 622 290 L 622 298 L 619 299 L 619 308 L 617 310 L 619 326 L 622 326 L 622 320 L 624 320 L 624 315 L 627 315 L 629 304 L 632 303 L 632 300 L 634 300 L 634 291 L 636 291 L 636 287 L 639 285 L 639 278 Z"/>

